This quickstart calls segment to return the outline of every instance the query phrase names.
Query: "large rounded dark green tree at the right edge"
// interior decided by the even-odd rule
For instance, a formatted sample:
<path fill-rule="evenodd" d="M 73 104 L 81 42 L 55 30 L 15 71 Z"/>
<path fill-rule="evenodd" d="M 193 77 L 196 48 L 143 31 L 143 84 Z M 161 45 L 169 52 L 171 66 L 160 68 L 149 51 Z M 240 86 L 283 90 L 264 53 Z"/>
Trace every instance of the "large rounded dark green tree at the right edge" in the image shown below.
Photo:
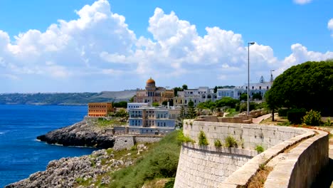
<path fill-rule="evenodd" d="M 266 100 L 270 109 L 305 108 L 333 115 L 332 96 L 333 62 L 308 61 L 277 76 Z"/>

